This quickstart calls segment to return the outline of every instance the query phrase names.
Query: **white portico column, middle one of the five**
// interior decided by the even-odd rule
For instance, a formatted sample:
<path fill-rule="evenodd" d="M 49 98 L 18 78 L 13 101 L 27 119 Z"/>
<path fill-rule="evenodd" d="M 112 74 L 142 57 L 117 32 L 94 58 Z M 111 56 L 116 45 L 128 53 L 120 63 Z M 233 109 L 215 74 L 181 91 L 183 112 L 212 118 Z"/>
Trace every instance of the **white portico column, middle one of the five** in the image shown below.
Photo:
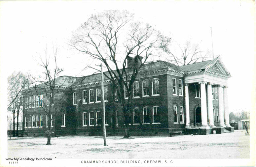
<path fill-rule="evenodd" d="M 214 126 L 213 121 L 213 105 L 212 105 L 212 87 L 211 83 L 207 84 L 207 106 L 208 106 L 208 120 L 209 120 L 209 126 Z"/>

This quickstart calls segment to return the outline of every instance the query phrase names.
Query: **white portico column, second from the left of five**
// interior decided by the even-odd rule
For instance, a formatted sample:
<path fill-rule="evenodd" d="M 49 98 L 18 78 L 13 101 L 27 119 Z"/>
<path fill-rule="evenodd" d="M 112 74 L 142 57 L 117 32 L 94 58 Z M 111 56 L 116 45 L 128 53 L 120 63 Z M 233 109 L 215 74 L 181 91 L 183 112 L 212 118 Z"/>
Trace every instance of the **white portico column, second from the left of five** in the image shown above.
<path fill-rule="evenodd" d="M 199 82 L 201 88 L 201 118 L 202 118 L 202 125 L 201 126 L 208 126 L 207 125 L 207 107 L 206 107 L 206 92 L 205 92 L 205 84 L 206 82 Z"/>

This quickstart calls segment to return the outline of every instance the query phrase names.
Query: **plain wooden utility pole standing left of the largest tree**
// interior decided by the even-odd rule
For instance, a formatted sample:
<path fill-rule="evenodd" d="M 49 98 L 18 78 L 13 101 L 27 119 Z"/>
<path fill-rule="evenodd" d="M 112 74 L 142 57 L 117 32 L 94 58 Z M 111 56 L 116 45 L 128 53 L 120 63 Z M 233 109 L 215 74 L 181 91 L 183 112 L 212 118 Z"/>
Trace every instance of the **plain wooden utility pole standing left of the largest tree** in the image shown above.
<path fill-rule="evenodd" d="M 104 75 L 102 70 L 102 64 L 100 64 L 101 69 L 101 104 L 102 104 L 102 132 L 103 132 L 103 139 L 104 139 L 104 146 L 107 145 L 106 141 L 106 126 L 105 126 L 105 101 L 104 101 Z"/>

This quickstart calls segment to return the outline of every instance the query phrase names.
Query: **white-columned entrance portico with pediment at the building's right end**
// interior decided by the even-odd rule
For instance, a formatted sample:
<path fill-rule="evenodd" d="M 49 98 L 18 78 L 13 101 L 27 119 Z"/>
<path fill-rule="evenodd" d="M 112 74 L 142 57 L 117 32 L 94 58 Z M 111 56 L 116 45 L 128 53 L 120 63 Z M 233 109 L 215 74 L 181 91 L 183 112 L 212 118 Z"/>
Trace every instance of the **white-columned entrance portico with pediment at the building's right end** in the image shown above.
<path fill-rule="evenodd" d="M 198 131 L 198 134 L 210 134 L 213 130 L 222 133 L 224 129 L 232 131 L 229 125 L 229 77 L 230 73 L 219 58 L 185 73 L 187 131 Z M 198 121 L 200 117 L 201 122 Z"/>

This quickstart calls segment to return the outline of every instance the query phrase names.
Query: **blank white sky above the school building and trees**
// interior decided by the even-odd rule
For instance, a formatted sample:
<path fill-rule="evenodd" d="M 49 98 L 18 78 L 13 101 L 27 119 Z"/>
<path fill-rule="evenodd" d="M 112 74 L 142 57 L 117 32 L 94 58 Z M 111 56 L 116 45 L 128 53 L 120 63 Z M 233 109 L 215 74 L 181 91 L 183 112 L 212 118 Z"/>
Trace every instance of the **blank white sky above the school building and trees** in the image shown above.
<path fill-rule="evenodd" d="M 254 1 L 1 1 L 1 86 L 13 71 L 38 72 L 38 55 L 57 44 L 62 75 L 81 76 L 88 59 L 67 42 L 72 31 L 102 10 L 128 10 L 136 17 L 170 33 L 173 42 L 200 43 L 221 55 L 230 71 L 229 108 L 252 110 L 255 90 Z M 5 97 L 4 91 L 1 97 Z"/>

